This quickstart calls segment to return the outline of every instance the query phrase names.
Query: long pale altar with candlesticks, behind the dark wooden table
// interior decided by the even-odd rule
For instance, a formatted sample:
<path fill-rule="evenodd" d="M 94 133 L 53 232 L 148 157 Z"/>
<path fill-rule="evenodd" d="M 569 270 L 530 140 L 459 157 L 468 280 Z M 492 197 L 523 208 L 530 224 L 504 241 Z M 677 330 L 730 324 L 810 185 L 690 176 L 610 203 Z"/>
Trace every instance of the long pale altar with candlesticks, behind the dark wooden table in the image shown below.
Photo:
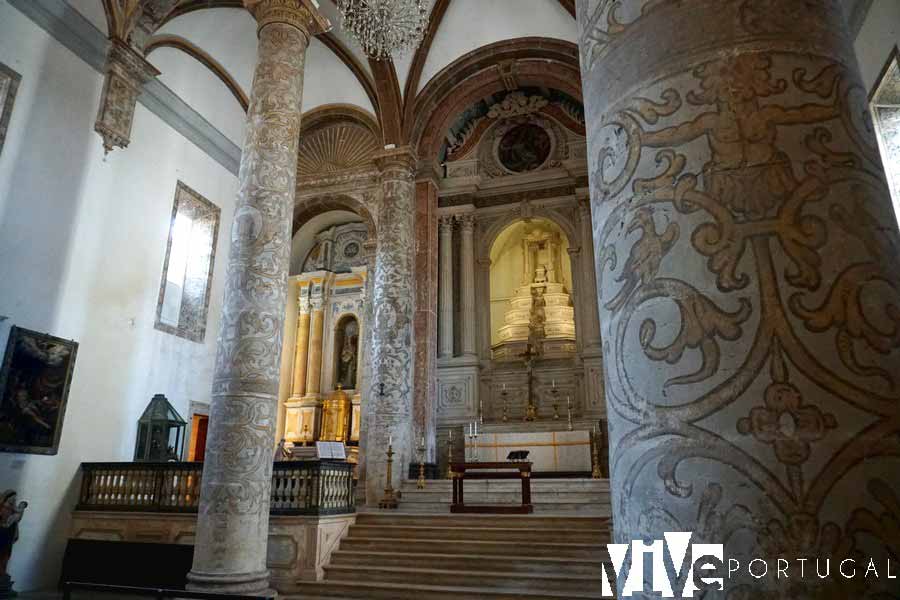
<path fill-rule="evenodd" d="M 504 462 L 510 452 L 527 450 L 536 473 L 590 473 L 590 431 L 497 431 L 479 432 L 477 450 L 466 440 L 466 457 L 479 462 Z"/>

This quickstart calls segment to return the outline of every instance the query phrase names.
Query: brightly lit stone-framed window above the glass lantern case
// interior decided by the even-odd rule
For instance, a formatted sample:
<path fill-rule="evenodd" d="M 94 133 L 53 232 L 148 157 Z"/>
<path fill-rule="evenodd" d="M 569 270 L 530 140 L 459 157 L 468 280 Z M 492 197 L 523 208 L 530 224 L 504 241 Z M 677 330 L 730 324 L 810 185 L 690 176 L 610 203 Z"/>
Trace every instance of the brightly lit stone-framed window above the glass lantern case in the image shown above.
<path fill-rule="evenodd" d="M 180 181 L 156 305 L 156 328 L 195 342 L 206 313 L 219 234 L 219 207 Z"/>

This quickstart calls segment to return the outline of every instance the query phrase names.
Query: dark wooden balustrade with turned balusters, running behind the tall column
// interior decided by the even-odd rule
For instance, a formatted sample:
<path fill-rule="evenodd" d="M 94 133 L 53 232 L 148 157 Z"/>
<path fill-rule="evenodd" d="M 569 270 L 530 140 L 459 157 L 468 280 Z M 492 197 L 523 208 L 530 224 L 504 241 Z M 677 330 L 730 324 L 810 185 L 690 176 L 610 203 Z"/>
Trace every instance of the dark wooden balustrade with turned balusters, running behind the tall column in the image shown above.
<path fill-rule="evenodd" d="M 203 463 L 82 463 L 76 510 L 195 513 Z M 274 515 L 335 515 L 356 510 L 353 465 L 331 461 L 275 463 Z"/>

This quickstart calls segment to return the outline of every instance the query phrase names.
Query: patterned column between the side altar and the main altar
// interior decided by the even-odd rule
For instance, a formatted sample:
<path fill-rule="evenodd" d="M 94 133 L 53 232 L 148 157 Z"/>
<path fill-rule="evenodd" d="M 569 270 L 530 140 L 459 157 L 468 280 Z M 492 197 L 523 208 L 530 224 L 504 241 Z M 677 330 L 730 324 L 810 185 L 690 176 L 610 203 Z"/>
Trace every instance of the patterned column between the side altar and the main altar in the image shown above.
<path fill-rule="evenodd" d="M 372 381 L 369 400 L 367 497 L 381 497 L 388 438 L 393 437 L 393 485 L 399 489 L 413 458 L 413 236 L 416 159 L 409 148 L 381 154 L 382 198 L 373 289 Z"/>

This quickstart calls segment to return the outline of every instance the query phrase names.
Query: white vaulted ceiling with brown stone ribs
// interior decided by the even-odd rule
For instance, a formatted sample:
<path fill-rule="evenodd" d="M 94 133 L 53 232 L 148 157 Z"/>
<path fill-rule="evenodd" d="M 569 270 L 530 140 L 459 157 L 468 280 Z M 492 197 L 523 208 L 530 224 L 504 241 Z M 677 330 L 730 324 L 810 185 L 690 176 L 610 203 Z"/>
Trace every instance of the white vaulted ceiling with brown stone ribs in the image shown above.
<path fill-rule="evenodd" d="M 108 33 L 104 4 L 111 0 L 68 1 Z M 407 56 L 377 62 L 368 60 L 341 29 L 333 0 L 321 0 L 321 11 L 333 28 L 310 44 L 304 112 L 352 105 L 373 117 L 384 143 L 409 143 L 411 136 L 421 134 L 417 123 L 428 121 L 417 111 L 424 106 L 423 98 L 434 95 L 429 85 L 433 88 L 435 82 L 446 80 L 461 63 L 480 56 L 478 68 L 470 65 L 468 72 L 457 73 L 462 79 L 493 68 L 494 78 L 502 80 L 499 58 L 480 53 L 485 47 L 502 50 L 504 42 L 515 44 L 522 39 L 555 40 L 575 47 L 574 0 L 431 0 L 431 4 L 421 47 Z M 256 58 L 256 24 L 241 0 L 178 0 L 146 50 L 148 60 L 162 72 L 164 84 L 232 141 L 241 143 Z M 508 61 L 518 59 L 506 56 L 504 60 L 509 68 Z"/>

